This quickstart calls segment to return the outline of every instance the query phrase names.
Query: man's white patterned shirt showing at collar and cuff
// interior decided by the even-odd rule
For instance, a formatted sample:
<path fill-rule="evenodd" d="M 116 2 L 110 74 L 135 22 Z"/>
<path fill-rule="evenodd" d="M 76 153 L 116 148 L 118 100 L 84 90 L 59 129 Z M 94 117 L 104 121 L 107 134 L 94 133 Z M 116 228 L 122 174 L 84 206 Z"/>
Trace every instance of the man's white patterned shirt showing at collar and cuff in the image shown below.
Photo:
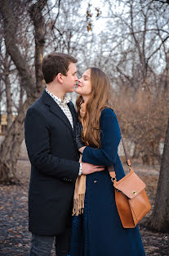
<path fill-rule="evenodd" d="M 61 110 L 64 112 L 64 115 L 68 118 L 72 129 L 73 129 L 73 117 L 72 117 L 72 113 L 69 110 L 68 107 L 68 103 L 70 101 L 70 98 L 68 96 L 64 97 L 64 100 L 61 100 L 61 98 L 58 98 L 56 95 L 51 94 L 51 92 L 49 92 L 46 88 L 46 92 L 47 94 L 49 94 L 51 96 L 51 98 L 53 98 L 55 100 L 55 102 L 59 105 L 59 107 L 61 108 Z M 79 167 L 79 171 L 78 171 L 78 176 L 82 175 L 82 163 L 80 162 L 80 167 Z"/>

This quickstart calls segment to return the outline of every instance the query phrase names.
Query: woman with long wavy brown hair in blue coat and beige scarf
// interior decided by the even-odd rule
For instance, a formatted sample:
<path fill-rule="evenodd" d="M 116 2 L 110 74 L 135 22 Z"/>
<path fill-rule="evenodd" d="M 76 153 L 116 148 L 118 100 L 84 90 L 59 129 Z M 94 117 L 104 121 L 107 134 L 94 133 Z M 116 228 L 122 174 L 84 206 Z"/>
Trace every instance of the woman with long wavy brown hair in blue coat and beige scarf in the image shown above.
<path fill-rule="evenodd" d="M 109 78 L 96 67 L 87 69 L 76 92 L 78 117 L 82 122 L 79 149 L 82 162 L 105 166 L 76 182 L 73 206 L 71 256 L 143 256 L 138 227 L 124 229 L 118 216 L 113 184 L 107 167 L 114 165 L 117 180 L 124 176 L 118 157 L 121 139 L 118 120 L 109 105 Z"/>

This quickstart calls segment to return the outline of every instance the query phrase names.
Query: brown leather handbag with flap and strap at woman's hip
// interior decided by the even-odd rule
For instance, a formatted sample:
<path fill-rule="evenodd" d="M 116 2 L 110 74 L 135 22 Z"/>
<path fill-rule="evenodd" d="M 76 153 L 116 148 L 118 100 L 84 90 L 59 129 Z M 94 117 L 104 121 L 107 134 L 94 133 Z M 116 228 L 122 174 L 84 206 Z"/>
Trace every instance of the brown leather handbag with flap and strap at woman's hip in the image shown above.
<path fill-rule="evenodd" d="M 118 214 L 124 228 L 134 228 L 137 223 L 149 212 L 151 205 L 145 192 L 145 183 L 136 175 L 131 167 L 131 162 L 127 157 L 127 151 L 123 144 L 129 173 L 120 181 L 116 180 L 113 165 L 109 167 L 109 175 L 115 190 L 115 201 Z"/>

